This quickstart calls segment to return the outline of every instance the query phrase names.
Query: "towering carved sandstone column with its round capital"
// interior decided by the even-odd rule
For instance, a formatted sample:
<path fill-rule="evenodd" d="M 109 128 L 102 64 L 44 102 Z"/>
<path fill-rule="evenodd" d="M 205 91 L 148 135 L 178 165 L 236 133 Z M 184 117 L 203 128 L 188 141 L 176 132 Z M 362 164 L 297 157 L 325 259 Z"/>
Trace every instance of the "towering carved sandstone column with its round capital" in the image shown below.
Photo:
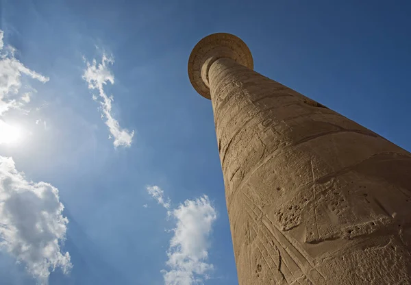
<path fill-rule="evenodd" d="M 411 284 L 411 153 L 252 69 L 230 34 L 188 62 L 212 101 L 239 283 Z"/>

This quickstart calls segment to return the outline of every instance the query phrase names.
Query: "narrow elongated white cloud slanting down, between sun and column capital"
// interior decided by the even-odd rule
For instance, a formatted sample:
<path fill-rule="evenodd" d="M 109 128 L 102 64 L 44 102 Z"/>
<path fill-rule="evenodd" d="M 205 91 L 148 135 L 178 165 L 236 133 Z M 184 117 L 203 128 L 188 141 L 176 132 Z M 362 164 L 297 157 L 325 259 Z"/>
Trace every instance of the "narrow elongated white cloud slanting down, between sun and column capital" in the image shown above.
<path fill-rule="evenodd" d="M 87 62 L 87 68 L 84 71 L 83 79 L 88 82 L 89 89 L 99 90 L 100 105 L 102 110 L 102 117 L 105 117 L 105 125 L 108 126 L 110 133 L 114 137 L 114 147 L 125 146 L 129 147 L 132 144 L 134 131 L 129 132 L 127 129 L 120 127 L 119 121 L 112 116 L 112 101 L 114 98 L 104 92 L 104 86 L 110 82 L 114 84 L 114 74 L 110 70 L 109 65 L 114 63 L 112 55 L 108 56 L 103 54 L 101 63 L 97 64 L 97 60 Z M 92 96 L 92 99 L 98 101 L 96 95 Z"/>

